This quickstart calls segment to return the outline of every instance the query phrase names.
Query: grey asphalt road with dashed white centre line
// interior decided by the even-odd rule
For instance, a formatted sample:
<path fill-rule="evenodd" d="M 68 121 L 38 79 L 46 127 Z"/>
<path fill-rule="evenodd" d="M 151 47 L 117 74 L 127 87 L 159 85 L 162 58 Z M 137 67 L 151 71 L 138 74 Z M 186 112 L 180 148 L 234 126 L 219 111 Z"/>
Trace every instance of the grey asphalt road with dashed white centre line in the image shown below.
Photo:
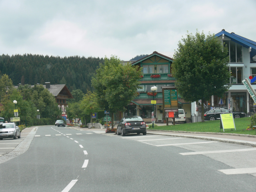
<path fill-rule="evenodd" d="M 13 140 L 11 140 L 13 141 Z M 170 136 L 44 126 L 0 164 L 0 191 L 254 192 L 256 148 Z"/>

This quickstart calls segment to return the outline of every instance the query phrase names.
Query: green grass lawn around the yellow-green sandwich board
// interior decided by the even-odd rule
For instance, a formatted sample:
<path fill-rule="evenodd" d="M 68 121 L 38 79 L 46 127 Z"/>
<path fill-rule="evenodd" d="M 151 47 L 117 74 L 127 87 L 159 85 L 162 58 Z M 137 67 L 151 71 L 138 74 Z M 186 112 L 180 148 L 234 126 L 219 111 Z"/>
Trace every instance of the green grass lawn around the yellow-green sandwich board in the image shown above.
<path fill-rule="evenodd" d="M 246 130 L 246 128 L 248 128 L 248 126 L 250 125 L 250 120 L 251 120 L 250 117 L 234 119 L 236 130 L 225 129 L 225 133 L 256 135 L 256 129 Z M 152 130 L 152 128 L 149 128 L 149 130 Z M 220 120 L 186 123 L 186 124 L 180 123 L 180 124 L 169 125 L 169 126 L 154 126 L 154 130 L 223 133 L 223 129 L 220 130 Z"/>

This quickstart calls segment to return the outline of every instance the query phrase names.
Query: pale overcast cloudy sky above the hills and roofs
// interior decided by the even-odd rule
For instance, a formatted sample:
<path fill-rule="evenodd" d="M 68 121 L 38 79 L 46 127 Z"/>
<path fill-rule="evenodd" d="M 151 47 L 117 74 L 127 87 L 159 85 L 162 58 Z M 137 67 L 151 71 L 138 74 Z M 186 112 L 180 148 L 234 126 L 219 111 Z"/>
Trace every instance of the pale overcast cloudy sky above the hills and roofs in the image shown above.
<path fill-rule="evenodd" d="M 256 41 L 256 0 L 0 0 L 0 55 L 130 60 L 222 29 Z"/>

